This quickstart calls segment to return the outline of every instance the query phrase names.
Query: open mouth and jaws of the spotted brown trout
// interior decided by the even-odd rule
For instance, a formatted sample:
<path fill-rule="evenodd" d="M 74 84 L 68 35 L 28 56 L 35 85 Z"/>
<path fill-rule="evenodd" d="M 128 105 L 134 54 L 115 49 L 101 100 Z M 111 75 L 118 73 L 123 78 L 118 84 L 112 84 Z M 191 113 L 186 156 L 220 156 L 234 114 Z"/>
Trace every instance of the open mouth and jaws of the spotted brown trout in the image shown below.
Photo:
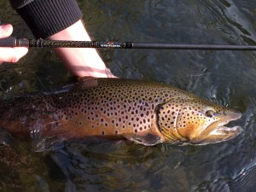
<path fill-rule="evenodd" d="M 225 113 L 223 118 L 219 118 L 218 121 L 213 122 L 207 126 L 206 129 L 202 130 L 195 141 L 196 144 L 208 144 L 208 143 L 220 143 L 228 141 L 238 136 L 243 129 L 241 126 L 228 127 L 225 126 L 230 121 L 240 119 L 241 113 L 229 110 Z M 192 143 L 194 143 L 192 141 Z"/>

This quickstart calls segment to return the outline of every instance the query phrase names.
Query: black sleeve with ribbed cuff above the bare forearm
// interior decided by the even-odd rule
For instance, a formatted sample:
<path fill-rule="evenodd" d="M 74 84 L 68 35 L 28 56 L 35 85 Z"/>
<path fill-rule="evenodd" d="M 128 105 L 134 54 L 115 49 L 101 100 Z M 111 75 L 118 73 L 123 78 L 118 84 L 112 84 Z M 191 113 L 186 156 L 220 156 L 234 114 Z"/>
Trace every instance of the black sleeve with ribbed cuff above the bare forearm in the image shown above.
<path fill-rule="evenodd" d="M 36 38 L 48 38 L 82 18 L 75 0 L 10 0 Z"/>

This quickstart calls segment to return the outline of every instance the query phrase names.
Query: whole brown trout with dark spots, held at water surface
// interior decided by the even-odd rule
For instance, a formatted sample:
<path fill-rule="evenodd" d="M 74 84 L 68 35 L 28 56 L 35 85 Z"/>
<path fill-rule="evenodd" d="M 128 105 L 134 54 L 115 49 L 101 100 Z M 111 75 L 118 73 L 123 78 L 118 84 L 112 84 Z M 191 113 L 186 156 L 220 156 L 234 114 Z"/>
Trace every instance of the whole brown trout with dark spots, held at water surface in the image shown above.
<path fill-rule="evenodd" d="M 171 85 L 87 78 L 61 90 L 0 103 L 0 126 L 12 137 L 126 137 L 136 143 L 218 143 L 236 137 L 226 127 L 241 113 Z M 41 143 L 42 144 L 42 143 Z"/>

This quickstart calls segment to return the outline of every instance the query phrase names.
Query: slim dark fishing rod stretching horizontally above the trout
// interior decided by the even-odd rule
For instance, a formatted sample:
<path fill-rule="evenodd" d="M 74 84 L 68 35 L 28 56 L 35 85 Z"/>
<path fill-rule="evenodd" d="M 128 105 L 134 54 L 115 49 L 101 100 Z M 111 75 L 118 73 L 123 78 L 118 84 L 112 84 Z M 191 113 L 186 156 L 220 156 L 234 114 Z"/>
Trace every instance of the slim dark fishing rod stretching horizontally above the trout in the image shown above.
<path fill-rule="evenodd" d="M 65 41 L 26 38 L 1 38 L 0 47 L 96 48 L 96 49 L 206 49 L 256 50 L 256 45 L 231 44 L 137 44 L 133 42 Z"/>

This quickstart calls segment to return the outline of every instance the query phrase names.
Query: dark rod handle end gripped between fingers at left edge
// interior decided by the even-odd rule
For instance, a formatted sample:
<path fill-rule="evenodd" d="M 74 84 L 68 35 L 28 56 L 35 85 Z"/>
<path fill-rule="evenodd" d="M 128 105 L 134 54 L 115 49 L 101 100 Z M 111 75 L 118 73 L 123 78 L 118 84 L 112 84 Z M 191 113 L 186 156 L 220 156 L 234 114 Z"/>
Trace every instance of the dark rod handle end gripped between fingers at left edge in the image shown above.
<path fill-rule="evenodd" d="M 26 38 L 17 39 L 15 37 L 0 38 L 0 47 L 28 47 L 29 40 Z"/>

